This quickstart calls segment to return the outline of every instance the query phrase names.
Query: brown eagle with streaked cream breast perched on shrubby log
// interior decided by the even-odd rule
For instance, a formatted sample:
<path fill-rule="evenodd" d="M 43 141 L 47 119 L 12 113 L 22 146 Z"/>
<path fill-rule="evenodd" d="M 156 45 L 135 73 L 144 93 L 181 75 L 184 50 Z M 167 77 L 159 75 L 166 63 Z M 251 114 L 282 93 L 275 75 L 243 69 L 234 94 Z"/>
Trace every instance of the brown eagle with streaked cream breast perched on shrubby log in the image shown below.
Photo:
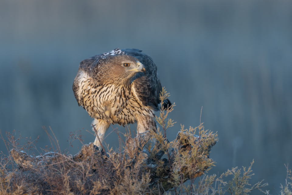
<path fill-rule="evenodd" d="M 139 49 L 116 48 L 85 59 L 73 82 L 78 105 L 94 119 L 100 142 L 110 124 L 137 122 L 137 133 L 156 131 L 161 90 L 156 65 Z M 163 105 L 171 103 L 166 99 Z M 97 136 L 94 145 L 100 147 Z"/>

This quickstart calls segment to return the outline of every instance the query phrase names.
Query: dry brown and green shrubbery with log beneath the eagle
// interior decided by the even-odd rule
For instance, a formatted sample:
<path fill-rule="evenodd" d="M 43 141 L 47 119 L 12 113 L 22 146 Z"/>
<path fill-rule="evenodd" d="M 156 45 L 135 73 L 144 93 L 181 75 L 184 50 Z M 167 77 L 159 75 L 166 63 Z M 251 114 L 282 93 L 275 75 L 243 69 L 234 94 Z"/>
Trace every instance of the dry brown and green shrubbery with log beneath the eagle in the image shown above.
<path fill-rule="evenodd" d="M 161 102 L 169 97 L 163 88 Z M 78 154 L 60 151 L 56 137 L 50 137 L 51 148 L 43 149 L 40 156 L 28 155 L 33 142 L 27 147 L 19 146 L 7 133 L 10 155 L 2 154 L 0 160 L 0 194 L 249 194 L 252 190 L 267 186 L 261 182 L 251 186 L 252 164 L 246 169 L 237 167 L 220 176 L 205 175 L 214 166 L 209 158 L 211 148 L 218 141 L 217 133 L 205 130 L 203 123 L 196 128 L 181 126 L 175 140 L 167 140 L 167 130 L 175 123 L 168 119 L 175 104 L 161 106 L 156 117 L 161 126 L 157 132 L 151 130 L 127 141 L 120 139 L 120 148 L 99 151 L 91 144 L 84 144 Z M 174 129 L 172 129 L 173 131 Z M 120 134 L 116 131 L 118 137 Z M 196 135 L 197 134 L 197 135 Z M 149 141 L 155 139 L 154 146 Z M 71 134 L 70 140 L 82 141 L 82 136 Z M 3 139 L 3 137 L 2 137 Z M 5 139 L 3 139 L 5 141 Z M 57 148 L 56 150 L 54 148 Z M 24 152 L 28 149 L 27 152 Z M 231 176 L 233 179 L 224 181 Z M 195 180 L 199 180 L 196 181 Z M 292 179 L 287 167 L 287 179 Z M 190 180 L 189 184 L 185 182 Z M 281 195 L 292 195 L 292 184 L 282 186 Z M 262 191 L 263 192 L 263 191 Z M 268 191 L 263 192 L 269 194 Z"/>

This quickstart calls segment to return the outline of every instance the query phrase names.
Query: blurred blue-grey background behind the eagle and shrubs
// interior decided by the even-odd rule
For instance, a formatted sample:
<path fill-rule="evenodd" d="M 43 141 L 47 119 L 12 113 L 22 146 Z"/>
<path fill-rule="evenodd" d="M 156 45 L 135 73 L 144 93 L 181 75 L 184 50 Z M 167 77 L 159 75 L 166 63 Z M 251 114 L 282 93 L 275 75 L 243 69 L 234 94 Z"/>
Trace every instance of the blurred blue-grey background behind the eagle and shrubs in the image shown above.
<path fill-rule="evenodd" d="M 219 137 L 209 173 L 255 159 L 251 183 L 265 179 L 279 193 L 284 163 L 292 163 L 291 10 L 292 1 L 269 0 L 0 0 L 2 135 L 40 135 L 44 148 L 50 142 L 42 126 L 50 126 L 61 150 L 78 129 L 84 143 L 93 141 L 85 131 L 92 119 L 72 91 L 78 64 L 117 47 L 139 48 L 177 105 L 169 140 L 180 124 L 198 126 L 203 106 L 205 128 Z M 105 141 L 118 147 L 115 133 Z M 0 150 L 7 154 L 2 141 Z"/>

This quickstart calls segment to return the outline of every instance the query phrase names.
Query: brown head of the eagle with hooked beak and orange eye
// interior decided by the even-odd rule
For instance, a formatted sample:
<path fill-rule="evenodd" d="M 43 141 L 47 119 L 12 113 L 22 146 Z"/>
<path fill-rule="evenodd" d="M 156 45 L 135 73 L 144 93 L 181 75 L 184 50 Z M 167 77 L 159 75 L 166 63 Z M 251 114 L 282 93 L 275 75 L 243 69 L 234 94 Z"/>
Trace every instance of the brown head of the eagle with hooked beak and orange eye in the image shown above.
<path fill-rule="evenodd" d="M 144 65 L 131 55 L 110 56 L 106 60 L 107 81 L 129 83 L 138 72 L 146 72 Z"/>

